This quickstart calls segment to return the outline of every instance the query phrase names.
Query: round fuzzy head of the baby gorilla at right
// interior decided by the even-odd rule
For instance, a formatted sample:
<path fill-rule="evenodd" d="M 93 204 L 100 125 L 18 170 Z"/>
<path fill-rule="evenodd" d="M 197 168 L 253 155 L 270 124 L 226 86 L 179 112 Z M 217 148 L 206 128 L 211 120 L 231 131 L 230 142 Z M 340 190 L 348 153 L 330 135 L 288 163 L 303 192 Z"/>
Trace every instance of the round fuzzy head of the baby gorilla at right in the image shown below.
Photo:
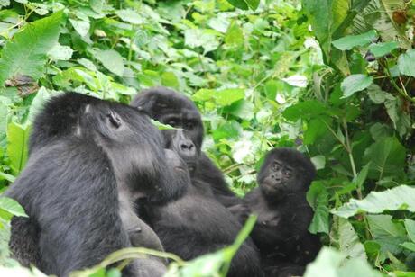
<path fill-rule="evenodd" d="M 281 198 L 289 193 L 306 192 L 315 174 L 309 158 L 290 148 L 277 148 L 265 157 L 257 181 L 264 195 Z"/>

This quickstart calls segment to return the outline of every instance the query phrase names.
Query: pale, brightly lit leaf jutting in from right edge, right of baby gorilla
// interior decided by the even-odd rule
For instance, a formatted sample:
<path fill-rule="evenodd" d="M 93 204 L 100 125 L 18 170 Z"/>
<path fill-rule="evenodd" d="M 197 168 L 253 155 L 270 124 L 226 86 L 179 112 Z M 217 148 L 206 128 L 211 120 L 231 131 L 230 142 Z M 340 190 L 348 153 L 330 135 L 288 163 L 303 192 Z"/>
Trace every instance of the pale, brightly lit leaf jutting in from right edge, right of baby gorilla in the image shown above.
<path fill-rule="evenodd" d="M 384 192 L 370 192 L 363 200 L 351 199 L 331 213 L 349 218 L 359 212 L 381 213 L 384 210 L 415 211 L 415 188 L 400 185 Z"/>

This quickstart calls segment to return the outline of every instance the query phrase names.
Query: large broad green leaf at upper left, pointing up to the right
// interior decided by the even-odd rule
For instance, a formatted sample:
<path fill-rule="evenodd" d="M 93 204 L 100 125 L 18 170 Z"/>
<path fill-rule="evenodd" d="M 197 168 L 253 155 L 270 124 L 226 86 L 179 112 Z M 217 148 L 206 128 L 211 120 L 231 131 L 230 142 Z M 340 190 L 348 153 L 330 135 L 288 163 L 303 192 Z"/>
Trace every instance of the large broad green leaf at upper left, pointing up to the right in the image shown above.
<path fill-rule="evenodd" d="M 0 86 L 14 76 L 31 76 L 38 79 L 44 72 L 47 53 L 57 43 L 63 13 L 28 24 L 23 31 L 7 42 L 0 58 Z"/>

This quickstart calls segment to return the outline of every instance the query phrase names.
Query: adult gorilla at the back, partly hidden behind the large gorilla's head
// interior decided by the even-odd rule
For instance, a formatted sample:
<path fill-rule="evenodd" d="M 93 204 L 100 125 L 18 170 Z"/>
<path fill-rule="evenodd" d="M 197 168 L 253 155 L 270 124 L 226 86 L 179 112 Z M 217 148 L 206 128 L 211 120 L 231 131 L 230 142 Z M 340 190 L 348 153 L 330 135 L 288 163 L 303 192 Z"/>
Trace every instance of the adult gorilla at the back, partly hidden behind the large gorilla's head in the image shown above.
<path fill-rule="evenodd" d="M 225 207 L 241 203 L 227 186 L 222 172 L 201 152 L 204 130 L 200 112 L 193 102 L 171 89 L 154 87 L 143 90 L 131 105 L 154 120 L 182 129 L 163 130 L 163 135 L 167 147 L 175 149 L 188 164 L 194 185 L 208 184 L 210 188 L 204 188 L 206 192 L 213 193 Z"/>

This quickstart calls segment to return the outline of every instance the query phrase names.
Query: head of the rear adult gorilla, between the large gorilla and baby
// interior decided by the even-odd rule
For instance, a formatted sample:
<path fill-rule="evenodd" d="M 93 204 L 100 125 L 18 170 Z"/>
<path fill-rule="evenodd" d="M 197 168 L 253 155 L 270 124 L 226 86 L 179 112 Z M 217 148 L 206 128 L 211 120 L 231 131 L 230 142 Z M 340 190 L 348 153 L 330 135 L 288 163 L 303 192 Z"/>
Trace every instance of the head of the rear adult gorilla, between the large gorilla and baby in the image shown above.
<path fill-rule="evenodd" d="M 203 140 L 198 108 L 187 97 L 164 87 L 144 90 L 131 103 L 152 119 L 179 130 L 163 130 L 165 147 L 174 149 L 194 171 Z"/>

